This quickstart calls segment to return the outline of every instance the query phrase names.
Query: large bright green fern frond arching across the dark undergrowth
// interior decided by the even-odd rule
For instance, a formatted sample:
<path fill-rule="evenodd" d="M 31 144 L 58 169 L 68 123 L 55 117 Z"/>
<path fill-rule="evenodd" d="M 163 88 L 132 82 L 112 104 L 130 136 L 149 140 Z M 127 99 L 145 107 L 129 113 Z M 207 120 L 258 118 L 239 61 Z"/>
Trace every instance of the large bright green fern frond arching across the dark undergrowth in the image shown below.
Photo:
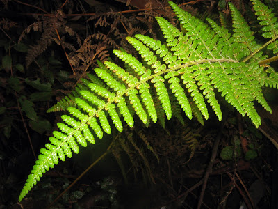
<path fill-rule="evenodd" d="M 278 24 L 271 10 L 260 1 L 252 0 L 263 26 L 263 36 L 270 39 L 260 45 L 231 3 L 232 34 L 213 20 L 207 19 L 208 26 L 169 3 L 181 31 L 162 17 L 156 17 L 165 44 L 140 34 L 128 37 L 140 60 L 123 49 L 113 51 L 124 62 L 125 69 L 111 61 L 99 63 L 95 75 L 88 75 L 90 80 L 83 79 L 83 84 L 78 84 L 71 95 L 49 109 L 66 109 L 68 114 L 62 116 L 63 123 L 57 123 L 59 131 L 53 132 L 50 143 L 40 150 L 19 201 L 59 159 L 72 157 L 72 152 L 79 153 L 78 144 L 95 144 L 95 137 L 101 139 L 103 132 L 110 134 L 109 121 L 122 132 L 121 118 L 130 127 L 133 127 L 135 114 L 142 123 L 149 124 L 151 120 L 156 123 L 163 120 L 160 118 L 164 118 L 164 114 L 170 119 L 172 111 L 180 107 L 188 118 L 195 115 L 203 123 L 203 118 L 208 119 L 207 104 L 221 120 L 216 91 L 242 116 L 246 114 L 256 127 L 261 124 L 261 118 L 254 102 L 271 112 L 261 88 L 277 88 L 278 75 L 270 65 L 260 65 L 268 58 L 262 50 L 264 47 L 277 53 Z M 177 103 L 179 105 L 172 109 L 172 104 Z"/>

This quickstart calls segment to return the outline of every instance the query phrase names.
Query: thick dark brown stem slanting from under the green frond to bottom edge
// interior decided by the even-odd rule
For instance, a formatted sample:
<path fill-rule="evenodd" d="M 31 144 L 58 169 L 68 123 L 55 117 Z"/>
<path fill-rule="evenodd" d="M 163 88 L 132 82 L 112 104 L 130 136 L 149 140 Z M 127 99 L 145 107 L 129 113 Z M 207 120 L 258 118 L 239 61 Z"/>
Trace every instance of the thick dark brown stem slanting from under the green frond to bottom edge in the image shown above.
<path fill-rule="evenodd" d="M 222 130 L 223 130 L 223 122 L 220 124 L 220 131 L 218 133 L 218 136 L 215 139 L 214 145 L 213 145 L 213 150 L 211 154 L 211 160 L 208 163 L 208 168 L 206 169 L 206 173 L 204 175 L 204 183 L 202 185 L 202 191 L 199 196 L 199 201 L 197 205 L 197 209 L 201 208 L 202 201 L 204 199 L 204 191 L 206 190 L 206 183 L 208 182 L 208 176 L 211 174 L 212 169 L 213 169 L 213 162 L 215 161 L 216 155 L 217 155 L 217 150 L 218 150 L 218 145 L 220 142 L 220 139 L 222 138 Z"/>

